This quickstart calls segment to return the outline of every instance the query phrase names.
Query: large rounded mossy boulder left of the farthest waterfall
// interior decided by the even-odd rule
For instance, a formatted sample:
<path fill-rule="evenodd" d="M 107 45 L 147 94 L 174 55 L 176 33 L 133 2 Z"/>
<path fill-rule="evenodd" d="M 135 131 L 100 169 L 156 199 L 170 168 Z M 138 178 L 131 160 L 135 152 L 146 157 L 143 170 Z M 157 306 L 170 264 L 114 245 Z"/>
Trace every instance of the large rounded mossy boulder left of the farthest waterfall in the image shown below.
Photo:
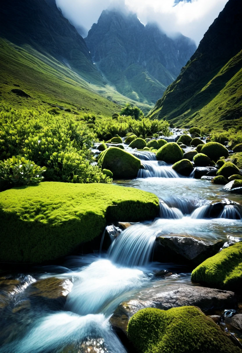
<path fill-rule="evenodd" d="M 122 179 L 136 178 L 141 168 L 139 158 L 117 147 L 109 147 L 101 152 L 98 163 L 102 168 L 111 170 L 114 178 Z"/>

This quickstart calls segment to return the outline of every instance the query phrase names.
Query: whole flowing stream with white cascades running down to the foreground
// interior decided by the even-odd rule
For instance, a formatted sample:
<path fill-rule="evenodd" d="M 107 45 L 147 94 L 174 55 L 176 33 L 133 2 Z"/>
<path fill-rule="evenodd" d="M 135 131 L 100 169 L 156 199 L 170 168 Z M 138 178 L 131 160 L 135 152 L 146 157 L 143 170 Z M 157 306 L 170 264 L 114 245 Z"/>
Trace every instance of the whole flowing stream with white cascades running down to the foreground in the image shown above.
<path fill-rule="evenodd" d="M 143 168 L 138 178 L 115 184 L 155 193 L 160 199 L 159 217 L 133 224 L 121 233 L 108 226 L 108 252 L 102 252 L 103 239 L 108 236 L 104 231 L 96 255 L 71 257 L 64 264 L 31 269 L 31 273 L 3 274 L 0 353 L 126 352 L 109 321 L 116 307 L 131 298 L 148 298 L 157 281 L 154 274 L 161 269 L 178 274 L 163 279 L 164 288 L 174 283 L 192 285 L 186 267 L 151 262 L 156 238 L 190 234 L 227 241 L 228 235 L 242 233 L 240 205 L 225 201 L 216 217 L 207 216 L 211 203 L 225 198 L 240 203 L 241 196 L 227 194 L 209 181 L 180 177 L 152 152 L 131 152 Z M 37 291 L 35 286 L 46 280 L 63 281 L 61 299 L 55 289 L 48 292 L 40 285 Z"/>

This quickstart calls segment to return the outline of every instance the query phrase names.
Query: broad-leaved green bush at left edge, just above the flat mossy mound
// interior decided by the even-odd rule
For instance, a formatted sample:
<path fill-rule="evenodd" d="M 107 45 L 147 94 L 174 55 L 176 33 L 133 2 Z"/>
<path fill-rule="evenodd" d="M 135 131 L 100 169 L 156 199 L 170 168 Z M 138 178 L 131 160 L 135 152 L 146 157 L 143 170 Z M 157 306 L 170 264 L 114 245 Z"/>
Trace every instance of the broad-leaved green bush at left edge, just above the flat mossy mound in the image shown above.
<path fill-rule="evenodd" d="M 12 186 L 21 186 L 40 183 L 46 172 L 46 167 L 39 167 L 34 162 L 24 157 L 12 156 L 7 160 L 0 161 L 0 190 Z"/>

